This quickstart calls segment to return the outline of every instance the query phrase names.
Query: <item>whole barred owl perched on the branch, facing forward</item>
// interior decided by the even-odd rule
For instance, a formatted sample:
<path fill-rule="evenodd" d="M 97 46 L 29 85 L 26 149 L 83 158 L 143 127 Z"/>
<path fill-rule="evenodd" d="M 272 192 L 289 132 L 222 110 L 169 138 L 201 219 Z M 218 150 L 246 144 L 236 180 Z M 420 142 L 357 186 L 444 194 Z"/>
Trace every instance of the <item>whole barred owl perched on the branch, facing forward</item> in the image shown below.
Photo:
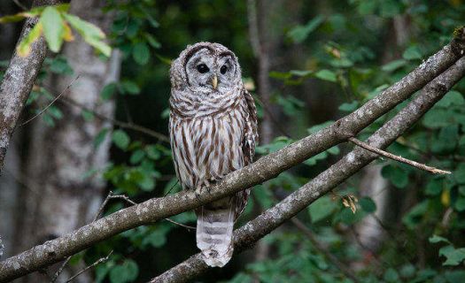
<path fill-rule="evenodd" d="M 252 163 L 257 113 L 241 80 L 236 55 L 219 43 L 188 46 L 170 70 L 169 132 L 174 168 L 183 189 L 200 193 L 229 172 Z M 205 264 L 224 266 L 233 253 L 232 233 L 250 191 L 196 210 L 197 246 Z"/>

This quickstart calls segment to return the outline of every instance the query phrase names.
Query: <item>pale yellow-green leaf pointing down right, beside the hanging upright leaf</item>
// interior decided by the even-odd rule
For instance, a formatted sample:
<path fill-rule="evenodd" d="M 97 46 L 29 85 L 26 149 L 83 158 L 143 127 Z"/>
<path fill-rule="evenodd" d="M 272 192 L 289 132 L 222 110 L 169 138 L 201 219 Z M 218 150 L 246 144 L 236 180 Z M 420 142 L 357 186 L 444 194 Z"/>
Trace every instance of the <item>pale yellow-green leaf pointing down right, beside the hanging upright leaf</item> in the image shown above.
<path fill-rule="evenodd" d="M 105 33 L 97 26 L 80 19 L 74 15 L 64 13 L 63 16 L 74 27 L 85 42 L 88 42 L 95 49 L 99 50 L 106 57 L 110 57 L 112 54 L 112 48 L 103 42 L 105 39 Z"/>

